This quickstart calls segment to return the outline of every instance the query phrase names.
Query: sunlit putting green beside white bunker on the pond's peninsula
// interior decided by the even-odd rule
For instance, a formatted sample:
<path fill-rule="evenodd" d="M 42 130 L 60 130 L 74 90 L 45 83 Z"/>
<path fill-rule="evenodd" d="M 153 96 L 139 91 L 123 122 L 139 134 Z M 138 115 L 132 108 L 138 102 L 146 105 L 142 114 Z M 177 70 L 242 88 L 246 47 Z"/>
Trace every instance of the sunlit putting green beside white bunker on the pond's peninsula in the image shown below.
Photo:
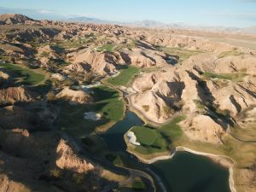
<path fill-rule="evenodd" d="M 152 145 L 157 138 L 157 131 L 144 126 L 135 126 L 132 128 L 137 137 L 137 142 L 143 145 Z"/>

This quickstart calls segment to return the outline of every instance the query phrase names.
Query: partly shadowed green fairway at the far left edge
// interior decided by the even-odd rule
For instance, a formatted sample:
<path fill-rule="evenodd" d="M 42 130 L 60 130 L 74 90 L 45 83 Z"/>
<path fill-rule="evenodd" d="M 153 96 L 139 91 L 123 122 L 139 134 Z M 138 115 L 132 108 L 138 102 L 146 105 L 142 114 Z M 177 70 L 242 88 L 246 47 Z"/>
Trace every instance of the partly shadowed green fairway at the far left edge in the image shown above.
<path fill-rule="evenodd" d="M 27 67 L 19 67 L 15 64 L 0 64 L 9 70 L 15 81 L 21 81 L 22 84 L 35 85 L 44 80 L 44 74 L 35 73 L 32 69 Z"/>

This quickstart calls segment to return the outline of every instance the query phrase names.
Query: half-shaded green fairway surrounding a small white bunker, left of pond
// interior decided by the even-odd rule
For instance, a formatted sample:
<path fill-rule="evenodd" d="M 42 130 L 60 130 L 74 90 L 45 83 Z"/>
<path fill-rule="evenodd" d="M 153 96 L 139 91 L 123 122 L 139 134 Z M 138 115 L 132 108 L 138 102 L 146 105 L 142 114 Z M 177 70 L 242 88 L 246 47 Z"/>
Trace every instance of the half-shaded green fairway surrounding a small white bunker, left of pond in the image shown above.
<path fill-rule="evenodd" d="M 119 92 L 108 86 L 93 88 L 94 101 L 88 104 L 70 105 L 68 102 L 60 102 L 61 114 L 56 120 L 57 127 L 67 131 L 75 137 L 84 137 L 96 131 L 96 128 L 108 123 L 116 122 L 125 115 L 124 103 L 119 97 Z M 84 119 L 85 112 L 102 114 L 100 120 Z"/>

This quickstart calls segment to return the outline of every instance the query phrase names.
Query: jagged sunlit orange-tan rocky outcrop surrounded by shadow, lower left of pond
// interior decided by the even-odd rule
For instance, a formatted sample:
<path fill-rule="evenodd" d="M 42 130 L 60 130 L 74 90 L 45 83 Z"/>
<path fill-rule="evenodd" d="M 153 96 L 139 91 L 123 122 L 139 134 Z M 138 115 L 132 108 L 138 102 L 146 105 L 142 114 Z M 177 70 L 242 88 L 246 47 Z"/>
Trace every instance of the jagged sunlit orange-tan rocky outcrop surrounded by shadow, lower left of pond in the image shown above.
<path fill-rule="evenodd" d="M 93 171 L 95 168 L 90 162 L 74 154 L 73 149 L 67 145 L 65 140 L 60 141 L 56 153 L 59 155 L 59 158 L 56 160 L 56 165 L 61 169 L 83 173 Z"/>

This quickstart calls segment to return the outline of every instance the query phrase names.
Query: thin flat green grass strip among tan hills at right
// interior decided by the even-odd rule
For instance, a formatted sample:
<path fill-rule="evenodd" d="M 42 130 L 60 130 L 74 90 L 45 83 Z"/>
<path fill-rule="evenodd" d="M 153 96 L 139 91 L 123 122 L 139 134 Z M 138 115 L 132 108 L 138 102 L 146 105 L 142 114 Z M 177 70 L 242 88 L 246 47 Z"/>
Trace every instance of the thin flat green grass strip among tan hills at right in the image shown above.
<path fill-rule="evenodd" d="M 245 73 L 203 73 L 205 79 L 225 79 L 225 80 L 241 80 L 247 74 Z"/>

